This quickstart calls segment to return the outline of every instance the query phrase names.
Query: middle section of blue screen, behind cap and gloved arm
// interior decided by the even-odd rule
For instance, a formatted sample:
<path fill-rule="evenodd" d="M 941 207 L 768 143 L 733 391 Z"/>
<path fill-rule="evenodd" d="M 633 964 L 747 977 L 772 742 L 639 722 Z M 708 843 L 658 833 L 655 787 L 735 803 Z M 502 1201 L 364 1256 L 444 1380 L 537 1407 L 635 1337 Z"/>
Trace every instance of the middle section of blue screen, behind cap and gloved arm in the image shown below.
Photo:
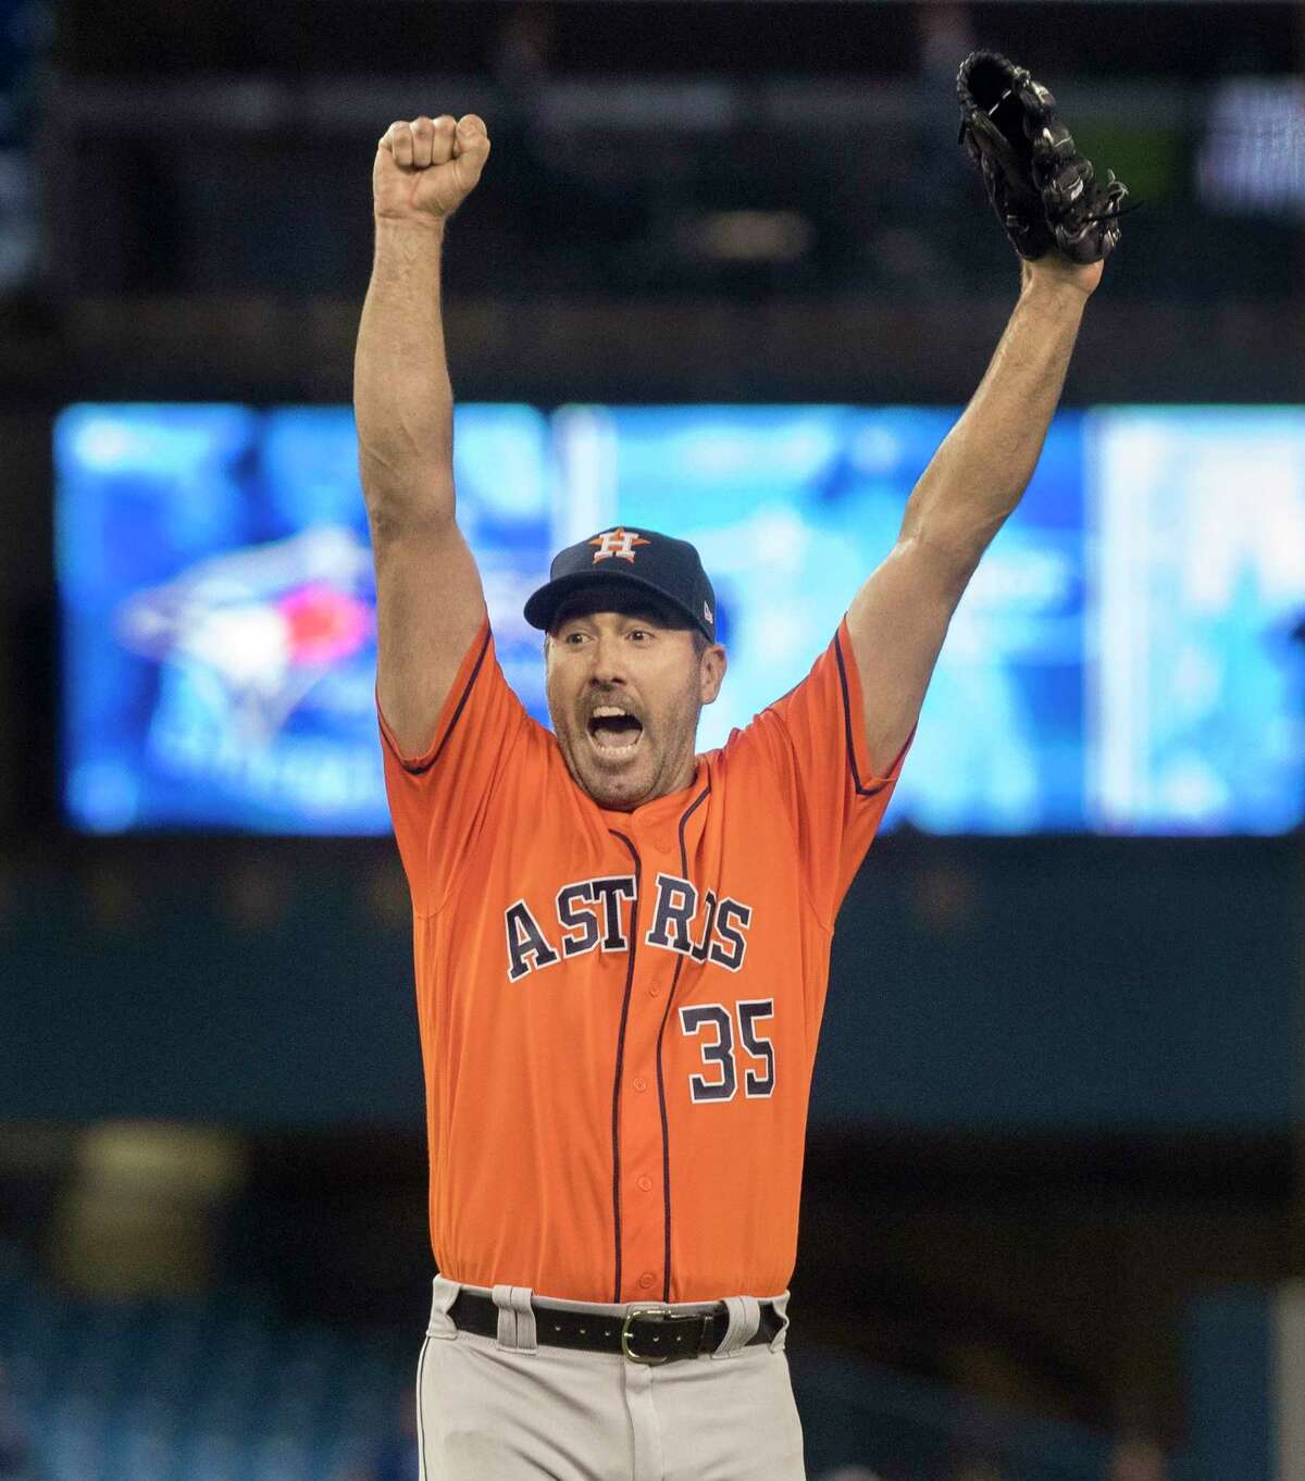
<path fill-rule="evenodd" d="M 810 668 L 892 549 L 957 412 L 693 413 L 567 409 L 560 444 L 591 529 L 649 524 L 702 552 L 729 652 L 721 696 L 702 712 L 699 743 L 710 748 Z M 1081 419 L 1065 413 L 952 618 L 884 826 L 1083 826 L 1081 478 Z"/>

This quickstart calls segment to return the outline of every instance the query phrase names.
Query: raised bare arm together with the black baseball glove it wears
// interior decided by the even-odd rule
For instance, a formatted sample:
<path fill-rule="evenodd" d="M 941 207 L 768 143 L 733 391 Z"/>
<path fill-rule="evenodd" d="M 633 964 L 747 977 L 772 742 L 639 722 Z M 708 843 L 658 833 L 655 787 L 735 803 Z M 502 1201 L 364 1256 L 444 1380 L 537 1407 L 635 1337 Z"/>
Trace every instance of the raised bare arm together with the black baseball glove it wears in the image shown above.
<path fill-rule="evenodd" d="M 1021 258 L 1021 292 L 988 373 L 911 493 L 898 544 L 847 612 L 877 772 L 907 743 L 951 615 L 1032 477 L 1129 194 L 1112 172 L 1096 178 L 1050 90 L 998 52 L 964 59 L 957 99 L 961 142 Z"/>

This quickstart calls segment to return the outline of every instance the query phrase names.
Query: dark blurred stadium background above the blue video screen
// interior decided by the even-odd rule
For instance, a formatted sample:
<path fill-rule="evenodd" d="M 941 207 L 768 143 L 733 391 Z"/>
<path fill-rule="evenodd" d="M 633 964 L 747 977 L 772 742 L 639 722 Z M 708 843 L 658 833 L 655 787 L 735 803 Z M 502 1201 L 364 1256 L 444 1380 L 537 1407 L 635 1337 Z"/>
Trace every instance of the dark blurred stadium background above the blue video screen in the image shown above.
<path fill-rule="evenodd" d="M 474 111 L 462 397 L 957 401 L 1016 284 L 957 145 L 989 46 L 1142 203 L 1069 395 L 1289 400 L 1301 30 L 1287 0 L 0 0 L 0 392 L 344 398 L 375 142 Z"/>

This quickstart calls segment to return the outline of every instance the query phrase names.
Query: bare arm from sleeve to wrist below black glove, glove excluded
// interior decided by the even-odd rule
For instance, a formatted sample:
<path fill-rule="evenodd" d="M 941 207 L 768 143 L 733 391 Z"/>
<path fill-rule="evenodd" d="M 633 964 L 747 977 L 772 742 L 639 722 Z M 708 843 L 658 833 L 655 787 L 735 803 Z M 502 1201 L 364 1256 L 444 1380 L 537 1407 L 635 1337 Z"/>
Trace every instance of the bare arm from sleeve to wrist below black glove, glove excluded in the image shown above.
<path fill-rule="evenodd" d="M 898 544 L 847 612 L 877 775 L 907 743 L 951 615 L 1032 477 L 1102 264 L 1049 253 L 1021 268 L 1019 302 L 987 375 L 915 484 Z"/>

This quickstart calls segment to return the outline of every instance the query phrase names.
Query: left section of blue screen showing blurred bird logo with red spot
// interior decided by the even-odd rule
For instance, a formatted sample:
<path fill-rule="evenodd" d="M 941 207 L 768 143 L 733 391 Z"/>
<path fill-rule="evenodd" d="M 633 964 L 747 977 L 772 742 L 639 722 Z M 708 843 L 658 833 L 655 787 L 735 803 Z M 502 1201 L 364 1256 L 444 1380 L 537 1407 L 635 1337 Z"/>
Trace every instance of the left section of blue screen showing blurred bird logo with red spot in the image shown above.
<path fill-rule="evenodd" d="M 532 407 L 459 409 L 461 517 L 496 616 L 548 544 L 547 450 Z M 388 831 L 350 409 L 74 406 L 55 462 L 73 825 Z M 538 634 L 505 622 L 499 644 L 541 709 Z"/>

